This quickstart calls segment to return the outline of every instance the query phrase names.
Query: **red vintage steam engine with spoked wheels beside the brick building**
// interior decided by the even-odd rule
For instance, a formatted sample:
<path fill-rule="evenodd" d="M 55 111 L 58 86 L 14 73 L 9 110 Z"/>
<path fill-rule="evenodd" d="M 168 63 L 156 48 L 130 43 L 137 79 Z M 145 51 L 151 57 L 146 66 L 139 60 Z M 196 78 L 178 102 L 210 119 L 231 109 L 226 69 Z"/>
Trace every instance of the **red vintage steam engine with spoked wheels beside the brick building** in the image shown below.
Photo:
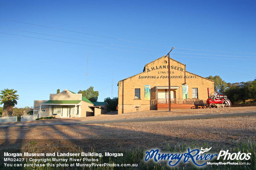
<path fill-rule="evenodd" d="M 226 95 L 221 95 L 218 92 L 209 93 L 208 88 L 208 99 L 204 108 L 215 108 L 215 107 L 230 107 L 231 101 L 227 98 Z"/>

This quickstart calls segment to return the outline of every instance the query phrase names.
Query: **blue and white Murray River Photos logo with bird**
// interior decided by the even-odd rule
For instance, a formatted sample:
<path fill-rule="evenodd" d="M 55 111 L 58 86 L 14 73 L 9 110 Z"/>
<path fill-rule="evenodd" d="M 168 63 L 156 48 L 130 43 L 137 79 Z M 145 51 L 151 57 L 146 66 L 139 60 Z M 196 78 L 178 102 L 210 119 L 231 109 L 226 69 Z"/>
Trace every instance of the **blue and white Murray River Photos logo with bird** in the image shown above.
<path fill-rule="evenodd" d="M 251 153 L 229 153 L 227 151 L 220 151 L 217 153 L 208 153 L 211 148 L 201 148 L 199 149 L 189 149 L 184 153 L 163 153 L 159 149 L 152 149 L 151 151 L 146 151 L 145 162 L 152 160 L 155 162 L 167 161 L 169 166 L 176 166 L 179 163 L 192 163 L 195 166 L 203 167 L 207 162 L 220 158 L 223 160 L 249 160 Z"/>

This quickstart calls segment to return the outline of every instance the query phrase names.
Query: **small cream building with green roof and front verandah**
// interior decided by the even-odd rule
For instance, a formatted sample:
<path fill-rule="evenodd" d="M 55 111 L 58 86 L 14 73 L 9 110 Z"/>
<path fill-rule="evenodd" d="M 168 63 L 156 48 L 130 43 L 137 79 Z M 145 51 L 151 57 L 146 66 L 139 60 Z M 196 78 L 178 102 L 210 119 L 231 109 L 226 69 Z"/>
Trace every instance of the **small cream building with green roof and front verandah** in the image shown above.
<path fill-rule="evenodd" d="M 59 94 L 50 94 L 48 101 L 34 101 L 34 114 L 40 117 L 72 118 L 94 116 L 94 104 L 82 94 L 63 90 Z"/>

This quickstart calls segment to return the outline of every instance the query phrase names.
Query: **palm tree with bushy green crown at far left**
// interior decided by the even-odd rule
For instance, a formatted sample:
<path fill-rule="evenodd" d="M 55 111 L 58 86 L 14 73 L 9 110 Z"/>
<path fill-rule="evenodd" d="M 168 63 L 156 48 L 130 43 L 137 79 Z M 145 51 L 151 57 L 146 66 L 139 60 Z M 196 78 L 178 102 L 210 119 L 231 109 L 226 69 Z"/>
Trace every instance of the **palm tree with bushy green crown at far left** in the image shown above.
<path fill-rule="evenodd" d="M 19 95 L 15 94 L 17 90 L 14 89 L 4 89 L 1 90 L 0 93 L 0 101 L 1 104 L 4 104 L 2 117 L 12 116 L 13 107 L 17 104 L 17 100 L 19 99 Z"/>

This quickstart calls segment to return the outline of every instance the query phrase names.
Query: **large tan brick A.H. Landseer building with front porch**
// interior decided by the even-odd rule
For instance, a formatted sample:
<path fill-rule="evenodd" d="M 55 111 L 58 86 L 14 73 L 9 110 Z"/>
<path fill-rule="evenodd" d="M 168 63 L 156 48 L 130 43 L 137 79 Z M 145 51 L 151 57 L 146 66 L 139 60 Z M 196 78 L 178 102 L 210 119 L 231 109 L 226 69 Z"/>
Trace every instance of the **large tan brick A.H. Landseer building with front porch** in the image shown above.
<path fill-rule="evenodd" d="M 170 58 L 172 108 L 190 108 L 208 99 L 214 82 L 186 71 L 186 65 Z M 145 65 L 143 72 L 118 82 L 118 114 L 147 110 L 168 110 L 168 57 Z"/>

